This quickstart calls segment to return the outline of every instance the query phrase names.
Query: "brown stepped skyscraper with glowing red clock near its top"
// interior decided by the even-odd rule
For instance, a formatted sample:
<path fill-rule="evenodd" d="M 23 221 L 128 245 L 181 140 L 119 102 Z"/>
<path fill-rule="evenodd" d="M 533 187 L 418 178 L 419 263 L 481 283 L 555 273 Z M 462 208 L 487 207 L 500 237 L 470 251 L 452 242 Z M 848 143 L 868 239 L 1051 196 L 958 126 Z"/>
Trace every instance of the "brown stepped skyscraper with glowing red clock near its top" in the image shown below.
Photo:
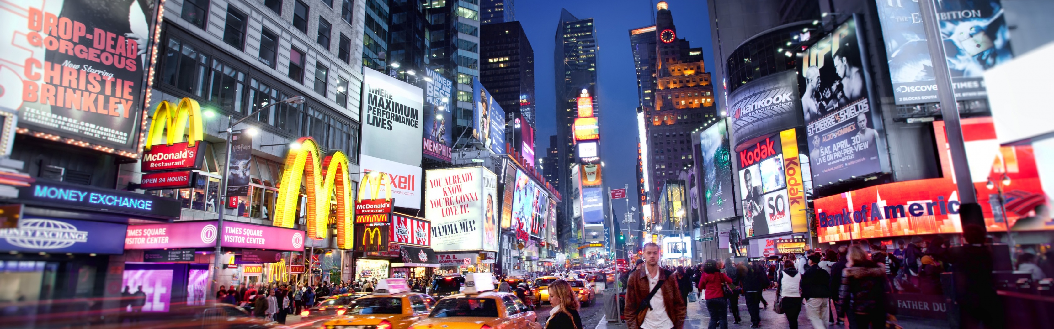
<path fill-rule="evenodd" d="M 650 198 L 658 197 L 655 191 L 660 190 L 663 181 L 676 179 L 688 168 L 692 162 L 691 132 L 717 116 L 714 88 L 710 74 L 704 71 L 702 49 L 691 47 L 687 40 L 677 37 L 677 26 L 665 1 L 660 1 L 656 8 L 655 43 L 645 43 L 648 38 L 644 36 L 632 37 L 633 31 L 630 31 L 632 46 L 655 44 L 653 60 L 637 61 L 647 139 L 642 146 L 642 152 L 647 152 L 643 154 L 647 157 L 643 161 L 647 163 L 645 180 L 653 186 Z M 632 43 L 635 41 L 638 43 Z M 645 88 L 652 83 L 653 90 Z M 650 96 L 652 94 L 655 96 Z"/>

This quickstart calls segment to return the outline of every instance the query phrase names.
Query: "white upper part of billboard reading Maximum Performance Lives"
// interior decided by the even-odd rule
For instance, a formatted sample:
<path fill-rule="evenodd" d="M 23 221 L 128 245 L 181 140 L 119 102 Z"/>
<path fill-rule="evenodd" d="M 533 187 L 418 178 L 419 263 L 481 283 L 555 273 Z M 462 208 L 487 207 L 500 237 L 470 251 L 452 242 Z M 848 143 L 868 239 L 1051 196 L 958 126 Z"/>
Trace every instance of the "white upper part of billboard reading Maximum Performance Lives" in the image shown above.
<path fill-rule="evenodd" d="M 374 70 L 365 70 L 362 107 L 362 154 L 421 166 L 424 91 Z"/>

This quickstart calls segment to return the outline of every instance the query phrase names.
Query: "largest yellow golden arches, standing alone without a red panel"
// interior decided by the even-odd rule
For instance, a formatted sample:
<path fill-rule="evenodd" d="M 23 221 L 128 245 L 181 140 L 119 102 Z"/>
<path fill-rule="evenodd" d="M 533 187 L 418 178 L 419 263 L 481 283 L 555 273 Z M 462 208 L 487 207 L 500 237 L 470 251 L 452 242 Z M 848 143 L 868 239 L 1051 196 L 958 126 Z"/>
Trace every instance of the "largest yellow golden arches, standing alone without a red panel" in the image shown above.
<path fill-rule="evenodd" d="M 325 176 L 323 171 L 325 170 Z M 307 177 L 309 238 L 325 238 L 329 222 L 331 201 L 336 201 L 337 248 L 352 249 L 351 180 L 348 177 L 348 157 L 341 151 L 331 151 L 324 158 L 312 137 L 300 137 L 286 156 L 286 166 L 275 202 L 274 225 L 292 228 L 296 222 L 296 204 L 300 194 L 300 180 Z"/>

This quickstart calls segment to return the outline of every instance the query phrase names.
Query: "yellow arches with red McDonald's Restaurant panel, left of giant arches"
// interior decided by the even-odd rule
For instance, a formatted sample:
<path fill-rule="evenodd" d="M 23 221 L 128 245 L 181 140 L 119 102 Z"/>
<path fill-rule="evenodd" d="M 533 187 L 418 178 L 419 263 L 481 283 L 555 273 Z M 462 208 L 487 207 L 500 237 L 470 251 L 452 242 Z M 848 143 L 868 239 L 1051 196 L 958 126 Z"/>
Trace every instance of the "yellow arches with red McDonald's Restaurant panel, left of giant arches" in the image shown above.
<path fill-rule="evenodd" d="M 204 158 L 204 125 L 196 100 L 183 98 L 179 104 L 162 100 L 154 111 L 147 132 L 142 172 L 198 170 Z"/>

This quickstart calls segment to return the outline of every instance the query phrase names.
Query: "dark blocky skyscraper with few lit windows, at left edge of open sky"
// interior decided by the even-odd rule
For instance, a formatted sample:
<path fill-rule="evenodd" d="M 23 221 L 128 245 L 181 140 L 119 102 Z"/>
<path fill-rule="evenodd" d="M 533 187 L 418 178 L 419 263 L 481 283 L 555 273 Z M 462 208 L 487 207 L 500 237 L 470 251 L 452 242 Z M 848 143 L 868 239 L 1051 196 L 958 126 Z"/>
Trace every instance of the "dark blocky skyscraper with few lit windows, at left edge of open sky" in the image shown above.
<path fill-rule="evenodd" d="M 480 27 L 483 40 L 480 83 L 490 91 L 506 115 L 520 113 L 534 125 L 534 50 L 519 21 Z"/>

